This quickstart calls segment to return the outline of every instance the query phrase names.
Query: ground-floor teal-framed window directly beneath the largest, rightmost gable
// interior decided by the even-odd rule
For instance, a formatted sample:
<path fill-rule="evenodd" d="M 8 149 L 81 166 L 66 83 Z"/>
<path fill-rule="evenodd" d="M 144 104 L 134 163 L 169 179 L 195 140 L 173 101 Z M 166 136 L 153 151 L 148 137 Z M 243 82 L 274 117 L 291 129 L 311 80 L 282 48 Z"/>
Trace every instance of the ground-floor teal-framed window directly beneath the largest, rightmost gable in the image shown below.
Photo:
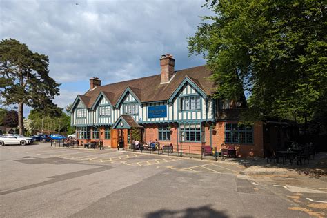
<path fill-rule="evenodd" d="M 201 124 L 185 124 L 179 126 L 179 141 L 204 141 L 204 130 Z"/>

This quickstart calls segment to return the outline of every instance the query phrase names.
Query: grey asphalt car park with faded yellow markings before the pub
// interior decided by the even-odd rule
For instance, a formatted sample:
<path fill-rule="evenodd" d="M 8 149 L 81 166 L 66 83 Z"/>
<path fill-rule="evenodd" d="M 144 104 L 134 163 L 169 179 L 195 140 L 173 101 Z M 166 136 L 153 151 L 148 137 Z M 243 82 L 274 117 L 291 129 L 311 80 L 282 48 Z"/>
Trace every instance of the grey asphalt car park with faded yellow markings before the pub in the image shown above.
<path fill-rule="evenodd" d="M 223 161 L 50 143 L 0 149 L 1 217 L 324 217 L 316 180 L 308 192 L 297 177 L 291 187 Z"/>

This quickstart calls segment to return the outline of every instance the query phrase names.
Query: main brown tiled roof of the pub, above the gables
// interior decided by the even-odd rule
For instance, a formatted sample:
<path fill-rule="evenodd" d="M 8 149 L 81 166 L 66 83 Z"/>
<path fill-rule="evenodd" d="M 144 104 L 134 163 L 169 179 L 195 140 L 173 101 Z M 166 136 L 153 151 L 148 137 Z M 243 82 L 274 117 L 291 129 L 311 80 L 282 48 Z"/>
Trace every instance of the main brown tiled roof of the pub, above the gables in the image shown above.
<path fill-rule="evenodd" d="M 185 70 L 177 70 L 169 83 L 161 84 L 161 75 L 153 75 L 99 86 L 93 90 L 88 90 L 88 92 L 80 95 L 80 97 L 83 103 L 86 104 L 86 107 L 91 108 L 102 91 L 110 103 L 115 105 L 119 97 L 129 87 L 141 102 L 166 101 L 186 77 L 194 81 L 207 95 L 211 95 L 215 92 L 215 83 L 209 79 L 211 75 L 212 72 L 206 66 L 198 66 Z"/>

